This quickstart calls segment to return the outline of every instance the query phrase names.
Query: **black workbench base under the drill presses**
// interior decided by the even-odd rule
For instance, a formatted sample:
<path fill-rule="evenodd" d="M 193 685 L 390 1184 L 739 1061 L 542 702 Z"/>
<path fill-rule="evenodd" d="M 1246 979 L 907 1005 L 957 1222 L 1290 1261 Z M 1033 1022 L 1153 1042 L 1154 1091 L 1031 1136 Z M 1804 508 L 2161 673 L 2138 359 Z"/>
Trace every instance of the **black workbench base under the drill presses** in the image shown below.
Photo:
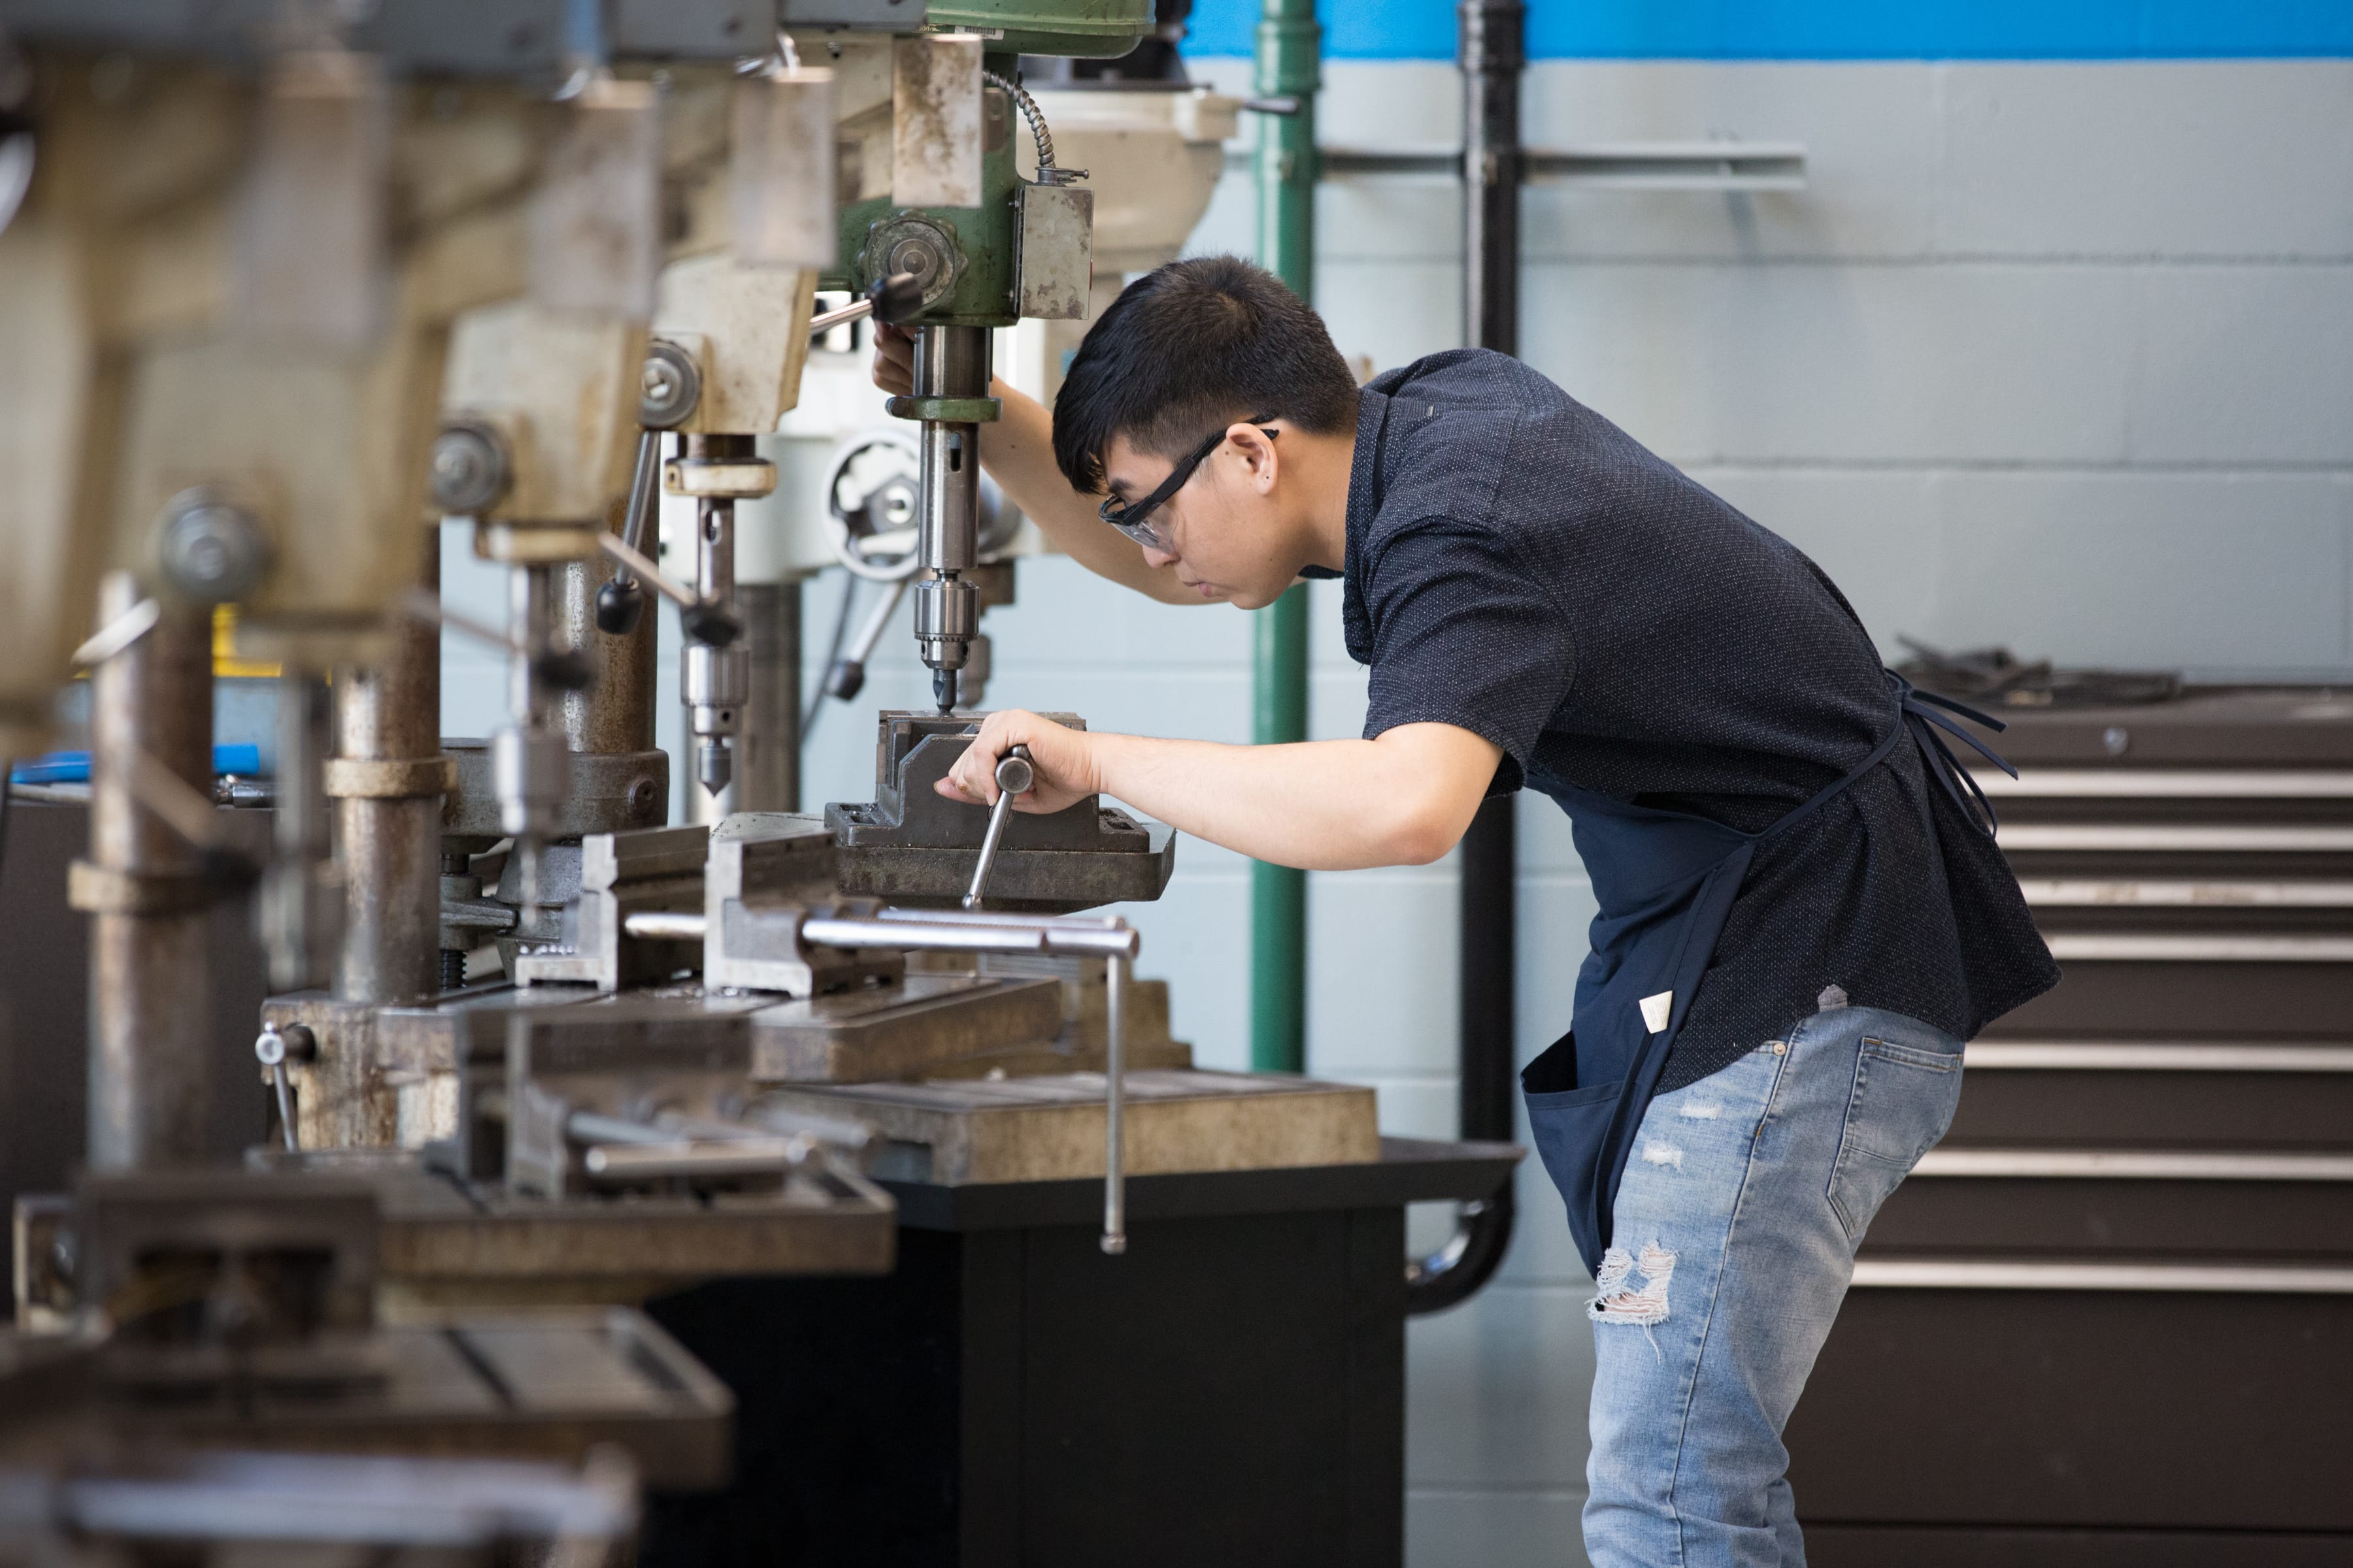
<path fill-rule="evenodd" d="M 645 1568 L 1405 1556 L 1405 1206 L 1494 1194 L 1497 1143 L 1353 1166 L 885 1182 L 882 1279 L 649 1305 L 736 1394 L 736 1479 L 656 1495 Z"/>

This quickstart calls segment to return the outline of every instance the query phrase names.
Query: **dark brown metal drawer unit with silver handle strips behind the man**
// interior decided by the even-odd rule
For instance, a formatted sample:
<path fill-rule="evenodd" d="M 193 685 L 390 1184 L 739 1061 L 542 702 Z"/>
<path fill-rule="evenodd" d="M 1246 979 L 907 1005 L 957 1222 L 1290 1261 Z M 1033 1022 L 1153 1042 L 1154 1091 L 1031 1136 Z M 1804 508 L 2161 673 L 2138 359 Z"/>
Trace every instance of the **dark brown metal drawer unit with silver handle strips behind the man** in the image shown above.
<path fill-rule="evenodd" d="M 1812 1561 L 2353 1563 L 2353 701 L 2002 717 L 2064 980 L 1864 1244 L 1788 1434 Z"/>

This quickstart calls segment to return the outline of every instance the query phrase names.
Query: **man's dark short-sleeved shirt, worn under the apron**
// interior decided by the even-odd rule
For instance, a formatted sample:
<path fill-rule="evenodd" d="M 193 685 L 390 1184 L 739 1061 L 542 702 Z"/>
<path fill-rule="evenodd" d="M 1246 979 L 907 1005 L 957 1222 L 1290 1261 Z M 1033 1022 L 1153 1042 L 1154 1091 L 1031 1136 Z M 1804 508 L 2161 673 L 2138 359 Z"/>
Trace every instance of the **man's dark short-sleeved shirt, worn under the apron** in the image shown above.
<path fill-rule="evenodd" d="M 1348 654 L 1372 665 L 1365 736 L 1480 733 L 1504 748 L 1497 792 L 1574 785 L 1758 832 L 1897 722 L 1878 649 L 1814 562 L 1499 353 L 1365 388 L 1344 578 Z M 1760 846 L 1659 1091 L 1786 1032 L 1831 985 L 1967 1039 L 2057 980 L 2000 851 L 1904 738 Z"/>

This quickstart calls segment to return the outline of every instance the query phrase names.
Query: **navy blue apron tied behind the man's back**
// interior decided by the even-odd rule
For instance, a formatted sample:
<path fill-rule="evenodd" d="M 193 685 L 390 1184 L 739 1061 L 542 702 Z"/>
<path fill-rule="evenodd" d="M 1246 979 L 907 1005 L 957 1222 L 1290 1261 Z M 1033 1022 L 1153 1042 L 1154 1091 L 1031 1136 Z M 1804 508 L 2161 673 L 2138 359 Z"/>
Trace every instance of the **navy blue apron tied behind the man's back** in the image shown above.
<path fill-rule="evenodd" d="M 1960 736 L 2012 778 L 2017 769 L 1937 708 L 1988 729 L 2002 724 L 1932 691 L 1913 691 L 1894 670 L 1887 679 L 1897 696 L 1887 738 L 1852 773 L 1762 832 L 1739 832 L 1704 816 L 1635 806 L 1593 790 L 1551 792 L 1569 813 L 1600 914 L 1593 917 L 1593 952 L 1577 976 L 1574 1027 L 1520 1072 L 1520 1093 L 1527 1098 L 1527 1121 L 1544 1168 L 1569 1204 L 1569 1234 L 1595 1274 L 1609 1246 L 1609 1211 L 1617 1206 L 1635 1128 L 1649 1110 L 1659 1070 L 1699 978 L 1715 957 L 1715 938 L 1758 844 L 1838 799 L 1885 762 L 1906 731 L 1918 736 L 1929 773 L 1962 813 L 1984 832 L 1993 830 L 1993 806 L 1937 731 Z"/>

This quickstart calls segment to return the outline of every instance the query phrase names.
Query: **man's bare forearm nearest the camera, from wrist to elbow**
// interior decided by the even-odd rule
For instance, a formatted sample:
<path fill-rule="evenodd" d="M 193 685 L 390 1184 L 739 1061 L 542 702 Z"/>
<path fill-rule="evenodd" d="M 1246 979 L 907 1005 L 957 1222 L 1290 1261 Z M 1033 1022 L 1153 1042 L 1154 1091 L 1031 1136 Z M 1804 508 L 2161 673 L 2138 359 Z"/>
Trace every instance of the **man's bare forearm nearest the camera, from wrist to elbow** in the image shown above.
<path fill-rule="evenodd" d="M 1426 865 L 1468 825 L 1449 799 L 1459 790 L 1417 776 L 1407 757 L 1377 741 L 1219 745 L 1099 733 L 1089 750 L 1106 795 L 1275 865 Z"/>

